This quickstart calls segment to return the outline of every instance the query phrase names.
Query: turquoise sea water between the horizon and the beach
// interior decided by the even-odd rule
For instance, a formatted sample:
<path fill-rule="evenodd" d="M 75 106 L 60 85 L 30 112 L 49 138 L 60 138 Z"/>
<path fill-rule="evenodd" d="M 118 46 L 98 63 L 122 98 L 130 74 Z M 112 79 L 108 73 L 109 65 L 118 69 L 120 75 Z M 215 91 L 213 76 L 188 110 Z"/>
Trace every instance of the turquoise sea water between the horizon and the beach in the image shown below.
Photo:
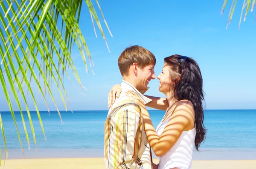
<path fill-rule="evenodd" d="M 61 152 L 59 153 L 61 155 L 68 153 L 70 156 L 72 156 L 72 152 L 76 152 L 74 156 L 103 156 L 104 123 L 108 111 L 74 111 L 73 113 L 63 111 L 61 117 L 64 124 L 61 124 L 58 113 L 55 111 L 50 112 L 50 115 L 48 112 L 40 113 L 47 141 L 44 139 L 36 112 L 32 112 L 38 148 L 36 152 L 26 112 L 24 112 L 24 118 L 29 133 L 30 151 L 28 151 L 20 113 L 15 112 L 25 154 L 30 153 L 33 156 L 35 155 L 33 153 L 36 152 L 37 154 L 41 153 L 42 157 L 48 157 L 49 155 L 54 156 L 56 152 Z M 149 110 L 149 113 L 156 127 L 165 112 Z M 10 152 L 9 157 L 15 158 L 15 152 L 21 152 L 15 124 L 10 112 L 1 112 L 1 115 L 7 148 Z M 241 152 L 248 150 L 250 153 L 256 154 L 256 110 L 205 110 L 204 115 L 207 138 L 201 144 L 202 152 Z M 2 133 L 0 134 L 0 146 L 3 152 Z"/>

